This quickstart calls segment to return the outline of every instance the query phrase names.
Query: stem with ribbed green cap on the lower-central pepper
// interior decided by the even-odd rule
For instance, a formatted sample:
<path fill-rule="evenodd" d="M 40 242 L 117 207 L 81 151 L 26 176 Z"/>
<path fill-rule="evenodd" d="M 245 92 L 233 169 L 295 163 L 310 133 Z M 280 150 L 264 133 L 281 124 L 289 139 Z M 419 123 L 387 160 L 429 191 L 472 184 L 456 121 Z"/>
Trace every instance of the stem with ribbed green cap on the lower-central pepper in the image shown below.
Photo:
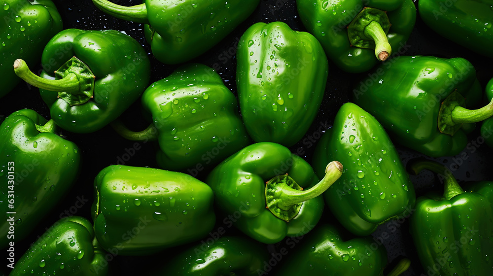
<path fill-rule="evenodd" d="M 341 177 L 342 171 L 341 163 L 330 162 L 325 168 L 325 176 L 322 180 L 305 191 L 287 173 L 278 175 L 267 181 L 265 185 L 267 208 L 282 220 L 289 221 L 298 214 L 303 202 L 316 198 L 325 192 Z"/>

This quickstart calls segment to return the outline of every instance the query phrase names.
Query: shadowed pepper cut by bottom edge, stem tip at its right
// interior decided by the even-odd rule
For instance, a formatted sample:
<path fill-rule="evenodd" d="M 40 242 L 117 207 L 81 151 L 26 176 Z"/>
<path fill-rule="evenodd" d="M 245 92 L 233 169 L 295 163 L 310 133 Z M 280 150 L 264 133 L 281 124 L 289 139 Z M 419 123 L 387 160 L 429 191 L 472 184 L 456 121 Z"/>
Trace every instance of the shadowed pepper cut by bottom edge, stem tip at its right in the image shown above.
<path fill-rule="evenodd" d="M 288 255 L 276 275 L 383 276 L 387 251 L 384 246 L 374 249 L 373 244 L 369 237 L 343 241 L 335 227 L 317 226 Z M 410 261 L 403 259 L 387 276 L 398 276 L 409 266 Z"/>

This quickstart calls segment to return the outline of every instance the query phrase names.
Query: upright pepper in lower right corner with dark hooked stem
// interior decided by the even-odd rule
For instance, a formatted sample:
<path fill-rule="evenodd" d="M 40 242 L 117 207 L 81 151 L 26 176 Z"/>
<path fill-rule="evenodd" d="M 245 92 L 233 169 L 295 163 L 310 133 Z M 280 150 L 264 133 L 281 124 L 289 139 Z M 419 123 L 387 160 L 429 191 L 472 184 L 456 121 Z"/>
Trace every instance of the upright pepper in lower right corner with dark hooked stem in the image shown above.
<path fill-rule="evenodd" d="M 428 275 L 492 275 L 493 182 L 462 189 L 443 165 L 412 160 L 415 174 L 429 170 L 444 181 L 443 194 L 418 198 L 410 218 L 410 232 Z"/>

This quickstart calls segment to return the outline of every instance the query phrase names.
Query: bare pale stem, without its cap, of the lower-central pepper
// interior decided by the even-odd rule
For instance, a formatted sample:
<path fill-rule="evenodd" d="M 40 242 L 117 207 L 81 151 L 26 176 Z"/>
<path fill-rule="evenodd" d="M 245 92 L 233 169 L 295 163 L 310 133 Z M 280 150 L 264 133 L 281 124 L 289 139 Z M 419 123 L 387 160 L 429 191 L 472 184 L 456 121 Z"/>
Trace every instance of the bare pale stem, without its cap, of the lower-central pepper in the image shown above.
<path fill-rule="evenodd" d="M 282 192 L 279 193 L 279 207 L 288 209 L 290 206 L 305 202 L 309 199 L 316 198 L 327 190 L 339 177 L 341 177 L 343 166 L 338 161 L 330 162 L 325 167 L 325 176 L 317 183 L 317 185 L 304 191 L 298 191 L 288 186 L 282 187 Z"/>

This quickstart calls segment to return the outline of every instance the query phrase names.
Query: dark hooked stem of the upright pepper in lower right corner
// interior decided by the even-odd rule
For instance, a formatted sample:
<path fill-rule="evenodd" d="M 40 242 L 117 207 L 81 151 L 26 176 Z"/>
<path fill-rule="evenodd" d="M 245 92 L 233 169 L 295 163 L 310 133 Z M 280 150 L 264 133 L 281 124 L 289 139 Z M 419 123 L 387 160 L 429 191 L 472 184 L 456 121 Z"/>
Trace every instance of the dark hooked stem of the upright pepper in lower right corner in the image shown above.
<path fill-rule="evenodd" d="M 447 169 L 447 167 L 443 166 L 442 164 L 424 158 L 417 158 L 409 161 L 408 171 L 417 175 L 422 170 L 428 170 L 433 173 L 437 173 L 440 179 L 444 179 L 445 181 L 445 188 L 443 192 L 444 199 L 450 200 L 451 198 L 464 193 L 464 190 L 457 183 L 457 180 L 452 174 L 452 172 L 450 172 L 450 170 Z"/>

